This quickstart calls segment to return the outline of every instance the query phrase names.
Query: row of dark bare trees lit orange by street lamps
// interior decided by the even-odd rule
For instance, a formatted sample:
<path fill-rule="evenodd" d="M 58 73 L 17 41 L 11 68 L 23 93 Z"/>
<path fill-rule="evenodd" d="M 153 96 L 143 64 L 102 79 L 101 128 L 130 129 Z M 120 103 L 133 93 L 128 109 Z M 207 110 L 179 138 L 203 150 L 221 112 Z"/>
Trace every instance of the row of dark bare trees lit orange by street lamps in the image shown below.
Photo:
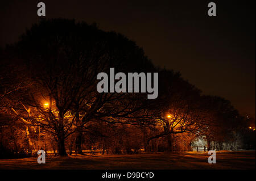
<path fill-rule="evenodd" d="M 1 50 L 1 158 L 33 155 L 191 150 L 195 138 L 255 149 L 255 120 L 180 73 L 155 67 L 134 41 L 96 24 L 42 20 Z M 175 60 L 173 60 L 175 61 Z M 97 74 L 158 72 L 159 96 L 98 93 Z M 250 123 L 249 123 L 250 122 Z M 237 148 L 233 145 L 233 148 Z"/>

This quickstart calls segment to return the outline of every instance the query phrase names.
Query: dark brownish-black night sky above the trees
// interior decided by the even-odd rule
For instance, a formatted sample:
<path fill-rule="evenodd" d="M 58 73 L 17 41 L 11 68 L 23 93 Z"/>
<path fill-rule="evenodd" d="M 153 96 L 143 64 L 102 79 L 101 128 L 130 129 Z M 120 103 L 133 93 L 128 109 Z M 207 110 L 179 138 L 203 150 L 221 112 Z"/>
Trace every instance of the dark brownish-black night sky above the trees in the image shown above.
<path fill-rule="evenodd" d="M 46 18 L 96 22 L 143 47 L 155 65 L 180 71 L 204 94 L 255 117 L 255 1 L 8 1 L 0 5 L 0 46 Z M 215 2 L 217 16 L 208 16 Z"/>

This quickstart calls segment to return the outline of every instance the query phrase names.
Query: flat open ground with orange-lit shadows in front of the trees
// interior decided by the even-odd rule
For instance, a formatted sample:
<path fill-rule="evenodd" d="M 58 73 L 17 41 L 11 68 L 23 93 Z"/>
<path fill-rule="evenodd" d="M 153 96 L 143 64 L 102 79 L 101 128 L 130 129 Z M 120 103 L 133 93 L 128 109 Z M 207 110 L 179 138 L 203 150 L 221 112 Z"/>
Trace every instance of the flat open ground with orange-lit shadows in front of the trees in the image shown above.
<path fill-rule="evenodd" d="M 152 153 L 123 155 L 69 155 L 0 159 L 0 169 L 255 169 L 255 150 L 216 151 L 216 164 L 208 163 L 207 152 Z"/>

